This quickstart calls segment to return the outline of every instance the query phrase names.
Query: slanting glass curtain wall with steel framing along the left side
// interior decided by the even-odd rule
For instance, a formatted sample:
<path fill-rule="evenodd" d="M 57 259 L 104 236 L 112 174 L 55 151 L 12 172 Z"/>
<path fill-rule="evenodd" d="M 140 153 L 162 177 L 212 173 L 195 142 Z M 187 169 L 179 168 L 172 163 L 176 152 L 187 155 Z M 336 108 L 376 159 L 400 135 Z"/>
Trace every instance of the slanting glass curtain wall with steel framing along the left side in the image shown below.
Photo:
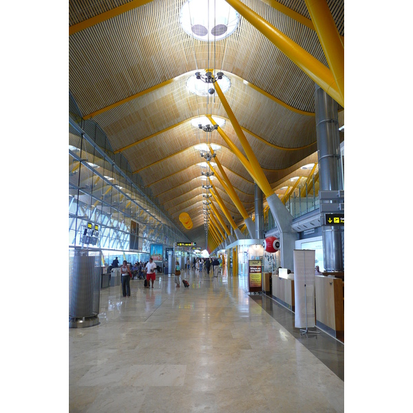
<path fill-rule="evenodd" d="M 145 260 L 151 244 L 173 246 L 176 240 L 187 237 L 140 191 L 125 158 L 113 155 L 103 131 L 96 123 L 83 122 L 70 99 L 69 246 L 87 243 L 128 255 L 140 253 L 130 257 Z"/>

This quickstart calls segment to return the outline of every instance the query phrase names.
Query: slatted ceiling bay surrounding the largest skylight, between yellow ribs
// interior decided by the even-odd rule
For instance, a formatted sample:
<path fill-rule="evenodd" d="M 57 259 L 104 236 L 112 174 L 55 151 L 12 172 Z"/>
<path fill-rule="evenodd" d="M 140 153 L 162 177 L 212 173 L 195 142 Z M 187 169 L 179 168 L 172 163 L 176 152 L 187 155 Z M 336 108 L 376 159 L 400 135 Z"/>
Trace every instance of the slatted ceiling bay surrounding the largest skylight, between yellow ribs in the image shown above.
<path fill-rule="evenodd" d="M 260 0 L 246 3 L 293 40 L 299 42 L 295 37 L 301 36 L 306 41 L 302 47 L 325 59 L 313 30 L 292 23 Z M 180 28 L 181 4 L 152 1 L 70 36 L 70 90 L 83 114 L 195 70 L 195 59 L 198 68 L 207 66 L 207 43 L 193 41 Z M 313 112 L 313 81 L 304 79 L 301 70 L 247 21 L 241 19 L 235 34 L 218 43 L 222 45 L 216 48 L 215 67 Z"/>

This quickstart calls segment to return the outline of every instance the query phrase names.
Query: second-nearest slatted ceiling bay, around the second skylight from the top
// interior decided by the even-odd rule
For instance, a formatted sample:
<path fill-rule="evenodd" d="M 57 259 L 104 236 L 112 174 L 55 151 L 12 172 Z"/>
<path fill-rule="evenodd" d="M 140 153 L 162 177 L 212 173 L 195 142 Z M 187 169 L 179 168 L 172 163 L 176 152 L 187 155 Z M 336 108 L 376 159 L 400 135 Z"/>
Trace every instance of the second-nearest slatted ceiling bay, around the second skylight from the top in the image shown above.
<path fill-rule="evenodd" d="M 181 83 L 184 82 L 181 81 Z M 235 92 L 238 86 L 242 87 L 242 94 Z M 309 145 L 315 141 L 314 118 L 294 112 L 290 114 L 288 109 L 256 92 L 251 87 L 248 87 L 249 93 L 247 90 L 244 90 L 245 88 L 246 85 L 235 80 L 234 87 L 231 87 L 229 92 L 227 92 L 227 99 L 230 105 L 233 105 L 235 116 L 237 116 L 242 126 L 253 131 L 254 134 L 257 134 L 257 136 L 260 136 L 260 138 L 266 140 L 271 145 L 294 148 Z M 169 92 L 165 96 L 167 89 Z M 197 116 L 198 113 L 202 114 L 202 111 L 198 112 L 201 99 L 198 96 L 186 94 L 183 100 L 179 100 L 176 97 L 176 92 L 174 92 L 173 84 L 171 84 L 130 103 L 110 109 L 108 112 L 96 116 L 95 120 L 103 127 L 109 140 L 113 142 L 115 149 L 117 149 L 118 147 L 125 147 L 131 143 L 139 142 L 139 140 L 152 136 L 153 132 L 167 129 L 167 127 L 176 123 L 179 124 L 187 118 Z M 255 100 L 255 105 L 251 104 L 251 99 Z M 205 98 L 203 100 L 206 101 Z M 215 105 L 211 104 L 209 108 L 217 109 L 218 107 L 217 112 L 219 112 L 219 116 L 226 117 L 222 106 L 217 101 L 218 98 L 215 99 Z M 158 107 L 167 107 L 168 111 L 158 109 L 158 112 L 154 112 Z M 257 110 L 257 108 L 259 109 Z M 154 116 L 151 117 L 150 114 L 154 114 Z M 290 116 L 289 122 L 286 121 L 288 116 Z M 263 121 L 263 118 L 266 121 Z M 268 119 L 271 119 L 274 124 L 268 122 Z M 154 125 L 155 120 L 156 125 Z M 243 122 L 243 120 L 246 120 L 246 122 Z M 178 125 L 177 128 L 178 130 L 175 133 L 179 134 L 184 134 L 185 132 L 195 134 L 197 131 L 197 129 L 191 127 L 189 121 L 185 125 Z M 224 128 L 224 130 L 226 129 Z M 171 130 L 167 131 L 167 134 L 171 134 Z M 199 133 L 197 135 L 199 138 Z M 158 140 L 158 138 L 159 135 L 153 136 L 153 139 Z M 141 145 L 139 144 L 139 146 Z M 239 145 L 238 147 L 242 151 L 242 146 Z M 129 160 L 131 165 L 134 165 L 134 160 Z M 134 166 L 132 166 L 132 169 L 134 169 Z M 139 169 L 139 167 L 136 169 Z"/>

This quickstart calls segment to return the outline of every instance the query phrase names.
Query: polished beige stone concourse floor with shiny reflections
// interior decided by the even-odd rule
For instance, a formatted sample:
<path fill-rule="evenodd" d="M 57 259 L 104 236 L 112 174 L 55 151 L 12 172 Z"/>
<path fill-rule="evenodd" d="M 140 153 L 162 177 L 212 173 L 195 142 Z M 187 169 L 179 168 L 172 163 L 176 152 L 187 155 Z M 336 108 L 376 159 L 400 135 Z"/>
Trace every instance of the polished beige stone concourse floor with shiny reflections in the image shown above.
<path fill-rule="evenodd" d="M 344 411 L 341 343 L 297 337 L 244 276 L 181 277 L 189 288 L 159 274 L 131 280 L 131 297 L 100 291 L 100 324 L 69 330 L 70 412 Z"/>

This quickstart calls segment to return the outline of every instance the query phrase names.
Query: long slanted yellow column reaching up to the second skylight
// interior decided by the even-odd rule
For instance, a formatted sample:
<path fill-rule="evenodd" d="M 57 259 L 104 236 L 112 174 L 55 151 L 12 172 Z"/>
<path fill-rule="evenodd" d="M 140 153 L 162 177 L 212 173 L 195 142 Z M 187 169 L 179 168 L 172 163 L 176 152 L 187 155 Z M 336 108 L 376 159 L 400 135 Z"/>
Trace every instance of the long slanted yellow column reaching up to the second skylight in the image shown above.
<path fill-rule="evenodd" d="M 215 82 L 214 86 L 215 86 L 215 90 L 218 93 L 218 96 L 220 96 L 222 106 L 224 107 L 225 112 L 229 117 L 229 120 L 231 120 L 235 133 L 240 139 L 241 145 L 246 153 L 246 156 L 249 162 L 251 163 L 251 167 L 253 167 L 254 175 L 257 178 L 255 182 L 257 182 L 257 185 L 260 187 L 262 192 L 264 192 L 264 194 L 267 197 L 270 195 L 273 195 L 273 189 L 271 189 L 271 186 L 268 183 L 266 176 L 264 175 L 264 171 L 262 171 L 262 168 L 260 167 L 260 163 L 255 157 L 253 149 L 251 149 L 251 145 L 248 143 L 248 140 L 246 140 L 244 132 L 242 131 L 240 124 L 237 121 L 237 118 L 235 118 L 235 115 L 233 114 L 233 111 L 231 107 L 229 106 L 229 103 L 226 101 L 226 98 L 224 94 L 222 93 L 220 85 L 218 85 L 218 82 Z"/>

